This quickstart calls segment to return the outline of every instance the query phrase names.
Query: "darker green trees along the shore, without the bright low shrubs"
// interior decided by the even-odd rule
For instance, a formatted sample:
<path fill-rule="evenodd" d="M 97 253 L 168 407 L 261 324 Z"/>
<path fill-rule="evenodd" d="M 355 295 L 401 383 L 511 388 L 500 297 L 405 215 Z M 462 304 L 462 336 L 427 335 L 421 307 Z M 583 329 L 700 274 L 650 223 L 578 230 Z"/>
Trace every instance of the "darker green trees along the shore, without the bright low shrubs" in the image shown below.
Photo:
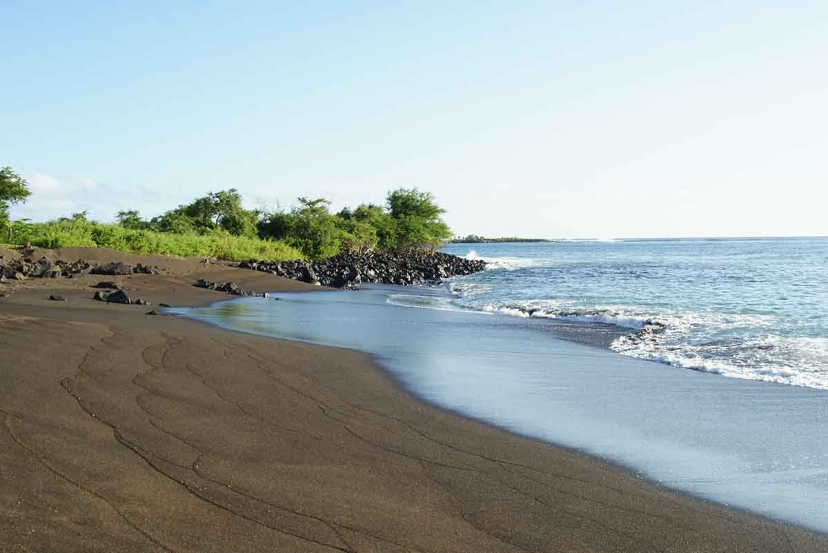
<path fill-rule="evenodd" d="M 29 195 L 26 181 L 10 168 L 0 171 L 0 218 L 9 203 Z M 118 211 L 118 226 L 129 231 L 198 234 L 282 241 L 306 257 L 320 259 L 343 251 L 434 247 L 449 238 L 442 209 L 433 195 L 416 188 L 388 192 L 384 205 L 359 204 L 331 213 L 330 200 L 296 199 L 289 211 L 244 209 L 235 188 L 209 192 L 152 220 L 136 209 Z M 87 212 L 61 218 L 87 222 Z M 94 222 L 90 222 L 94 223 Z"/>

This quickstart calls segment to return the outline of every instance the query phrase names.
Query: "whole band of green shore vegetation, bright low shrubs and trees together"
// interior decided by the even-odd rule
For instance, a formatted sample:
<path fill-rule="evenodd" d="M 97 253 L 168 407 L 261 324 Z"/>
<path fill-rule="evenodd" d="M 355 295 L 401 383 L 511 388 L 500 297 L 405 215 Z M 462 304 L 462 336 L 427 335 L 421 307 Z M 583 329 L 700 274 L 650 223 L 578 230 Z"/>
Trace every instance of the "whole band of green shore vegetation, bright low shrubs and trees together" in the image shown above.
<path fill-rule="evenodd" d="M 339 252 L 435 247 L 450 236 L 445 210 L 428 192 L 398 189 L 384 206 L 361 204 L 339 213 L 330 201 L 299 198 L 286 211 L 244 209 L 238 190 L 210 192 L 153 219 L 120 211 L 117 224 L 72 214 L 47 223 L 9 221 L 9 203 L 25 201 L 26 181 L 6 168 L 0 173 L 0 228 L 8 243 L 41 248 L 101 246 L 129 252 L 213 256 L 229 260 L 322 259 Z M 0 240 L 2 241 L 2 240 Z"/>

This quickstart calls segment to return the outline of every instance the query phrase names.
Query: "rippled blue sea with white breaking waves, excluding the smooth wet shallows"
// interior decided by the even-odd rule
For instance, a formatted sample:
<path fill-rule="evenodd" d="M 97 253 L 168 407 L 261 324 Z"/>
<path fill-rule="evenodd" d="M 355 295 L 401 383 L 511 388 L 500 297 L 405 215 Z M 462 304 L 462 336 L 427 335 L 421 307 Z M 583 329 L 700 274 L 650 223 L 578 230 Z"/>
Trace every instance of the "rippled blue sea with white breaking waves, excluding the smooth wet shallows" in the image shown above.
<path fill-rule="evenodd" d="M 639 329 L 610 345 L 726 377 L 828 389 L 828 238 L 453 244 L 489 260 L 453 304 Z"/>

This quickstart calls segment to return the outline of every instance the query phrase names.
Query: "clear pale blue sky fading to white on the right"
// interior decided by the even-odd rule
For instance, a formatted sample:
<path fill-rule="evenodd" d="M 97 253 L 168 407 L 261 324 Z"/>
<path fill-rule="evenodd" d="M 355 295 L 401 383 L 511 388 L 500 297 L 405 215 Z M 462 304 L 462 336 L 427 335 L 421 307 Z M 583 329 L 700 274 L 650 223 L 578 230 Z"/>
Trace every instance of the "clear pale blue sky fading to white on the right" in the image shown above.
<path fill-rule="evenodd" d="M 825 0 L 183 4 L 3 2 L 12 218 L 418 187 L 458 235 L 828 234 Z"/>

